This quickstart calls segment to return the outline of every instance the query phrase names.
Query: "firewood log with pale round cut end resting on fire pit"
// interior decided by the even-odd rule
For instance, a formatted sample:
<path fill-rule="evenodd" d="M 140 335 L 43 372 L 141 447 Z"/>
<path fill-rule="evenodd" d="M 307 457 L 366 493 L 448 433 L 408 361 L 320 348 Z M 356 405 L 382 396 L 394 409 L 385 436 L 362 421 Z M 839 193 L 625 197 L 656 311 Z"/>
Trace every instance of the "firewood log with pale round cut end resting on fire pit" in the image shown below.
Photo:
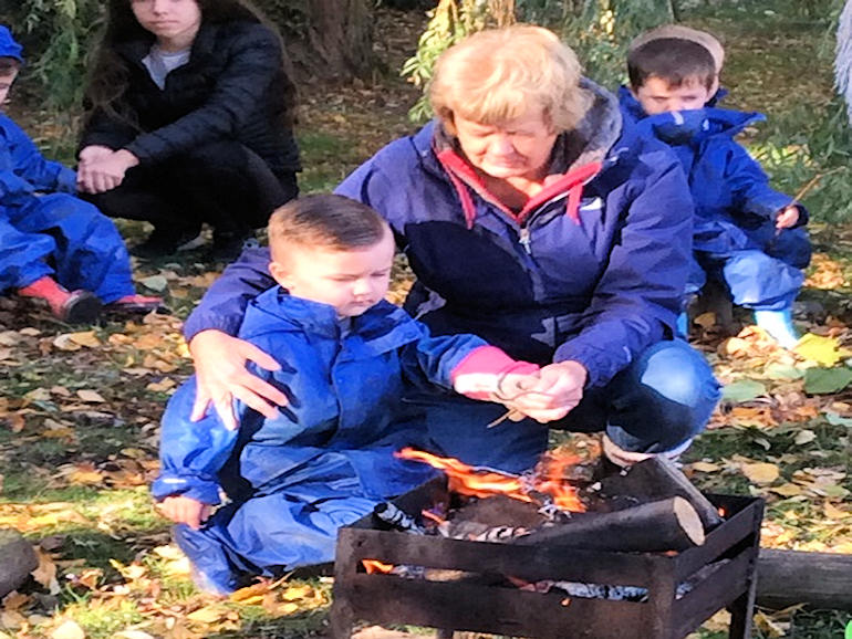
<path fill-rule="evenodd" d="M 624 553 L 684 551 L 704 544 L 704 526 L 689 502 L 671 497 L 613 513 L 586 513 L 511 543 Z"/>

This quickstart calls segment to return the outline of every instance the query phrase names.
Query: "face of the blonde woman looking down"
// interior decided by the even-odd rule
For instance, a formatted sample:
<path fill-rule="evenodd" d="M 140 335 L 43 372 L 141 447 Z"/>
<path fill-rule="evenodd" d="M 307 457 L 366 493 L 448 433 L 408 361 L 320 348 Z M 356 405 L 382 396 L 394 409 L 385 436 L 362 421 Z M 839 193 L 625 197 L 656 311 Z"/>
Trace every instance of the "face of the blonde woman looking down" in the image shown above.
<path fill-rule="evenodd" d="M 486 175 L 498 179 L 531 180 L 540 180 L 547 175 L 557 134 L 547 122 L 543 109 L 529 109 L 499 126 L 459 115 L 454 116 L 453 124 L 468 161 Z"/>

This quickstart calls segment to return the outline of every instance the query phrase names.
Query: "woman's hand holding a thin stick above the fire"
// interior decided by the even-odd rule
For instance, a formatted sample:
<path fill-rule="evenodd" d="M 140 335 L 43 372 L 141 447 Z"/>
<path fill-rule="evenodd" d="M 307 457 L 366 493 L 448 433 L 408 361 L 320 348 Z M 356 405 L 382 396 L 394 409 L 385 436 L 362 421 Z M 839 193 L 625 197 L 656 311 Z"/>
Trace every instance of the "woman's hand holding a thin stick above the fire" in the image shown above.
<path fill-rule="evenodd" d="M 580 404 L 588 377 L 579 362 L 549 364 L 537 378 L 523 381 L 521 391 L 507 406 L 541 423 L 562 419 Z"/>

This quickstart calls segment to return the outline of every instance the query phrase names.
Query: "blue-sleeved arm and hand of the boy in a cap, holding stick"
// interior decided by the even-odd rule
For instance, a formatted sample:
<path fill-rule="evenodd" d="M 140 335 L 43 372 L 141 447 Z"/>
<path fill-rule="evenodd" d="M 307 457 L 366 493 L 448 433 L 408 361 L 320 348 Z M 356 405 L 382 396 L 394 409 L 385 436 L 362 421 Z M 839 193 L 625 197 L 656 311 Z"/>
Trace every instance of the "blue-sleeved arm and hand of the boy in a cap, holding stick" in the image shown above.
<path fill-rule="evenodd" d="M 808 210 L 793 198 L 769 186 L 769 176 L 760 164 L 739 144 L 734 144 L 725 167 L 725 179 L 734 198 L 735 213 L 758 216 L 775 222 L 789 206 L 794 205 L 799 219 L 793 227 L 808 223 Z"/>

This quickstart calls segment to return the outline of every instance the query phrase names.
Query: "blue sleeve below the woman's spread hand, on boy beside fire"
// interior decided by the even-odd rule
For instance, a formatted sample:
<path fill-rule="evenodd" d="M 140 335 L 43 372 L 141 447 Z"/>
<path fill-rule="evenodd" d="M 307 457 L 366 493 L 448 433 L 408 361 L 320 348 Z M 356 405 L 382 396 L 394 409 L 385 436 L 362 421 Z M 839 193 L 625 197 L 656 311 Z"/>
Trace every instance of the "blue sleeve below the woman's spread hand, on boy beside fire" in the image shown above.
<path fill-rule="evenodd" d="M 215 412 L 189 421 L 195 392 L 195 378 L 190 378 L 163 416 L 160 472 L 150 489 L 157 501 L 181 495 L 202 504 L 219 503 L 218 472 L 233 450 L 238 431 L 225 428 Z"/>

